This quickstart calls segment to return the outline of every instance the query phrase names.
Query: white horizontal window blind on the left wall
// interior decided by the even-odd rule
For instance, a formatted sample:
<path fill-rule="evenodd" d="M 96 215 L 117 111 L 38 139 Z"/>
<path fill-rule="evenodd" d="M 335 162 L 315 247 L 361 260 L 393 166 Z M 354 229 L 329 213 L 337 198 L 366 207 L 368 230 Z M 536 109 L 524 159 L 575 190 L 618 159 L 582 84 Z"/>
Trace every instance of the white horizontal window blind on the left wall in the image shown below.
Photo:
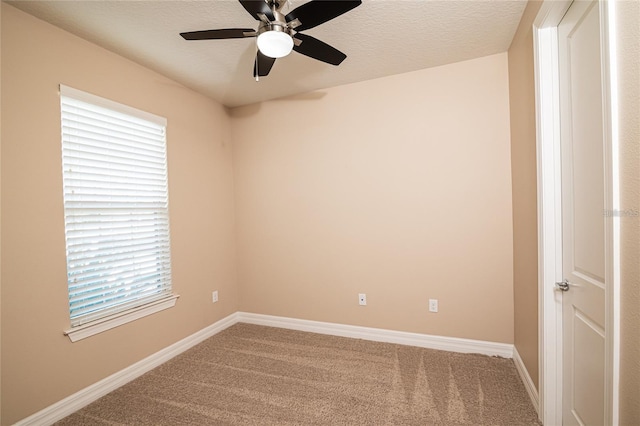
<path fill-rule="evenodd" d="M 60 86 L 71 326 L 171 297 L 166 119 Z"/>

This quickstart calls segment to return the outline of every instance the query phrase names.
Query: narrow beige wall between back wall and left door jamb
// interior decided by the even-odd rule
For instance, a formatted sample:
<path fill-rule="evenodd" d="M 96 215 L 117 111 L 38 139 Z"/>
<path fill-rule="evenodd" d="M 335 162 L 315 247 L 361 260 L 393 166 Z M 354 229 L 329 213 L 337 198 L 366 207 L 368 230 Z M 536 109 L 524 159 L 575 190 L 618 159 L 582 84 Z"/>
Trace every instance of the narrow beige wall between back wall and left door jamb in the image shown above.
<path fill-rule="evenodd" d="M 538 387 L 538 215 L 533 20 L 530 1 L 509 47 L 514 345 Z"/>

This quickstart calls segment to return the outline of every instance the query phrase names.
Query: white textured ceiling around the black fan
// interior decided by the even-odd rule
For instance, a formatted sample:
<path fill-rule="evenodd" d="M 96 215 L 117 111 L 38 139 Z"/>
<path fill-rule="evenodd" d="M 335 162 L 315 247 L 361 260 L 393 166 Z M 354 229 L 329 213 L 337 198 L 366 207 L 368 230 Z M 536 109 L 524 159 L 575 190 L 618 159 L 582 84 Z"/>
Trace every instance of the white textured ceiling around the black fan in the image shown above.
<path fill-rule="evenodd" d="M 363 0 L 305 31 L 347 54 L 338 67 L 292 52 L 253 79 L 255 39 L 185 41 L 180 32 L 257 28 L 235 0 L 7 1 L 234 107 L 504 52 L 526 0 Z M 290 0 L 291 10 L 306 0 Z"/>

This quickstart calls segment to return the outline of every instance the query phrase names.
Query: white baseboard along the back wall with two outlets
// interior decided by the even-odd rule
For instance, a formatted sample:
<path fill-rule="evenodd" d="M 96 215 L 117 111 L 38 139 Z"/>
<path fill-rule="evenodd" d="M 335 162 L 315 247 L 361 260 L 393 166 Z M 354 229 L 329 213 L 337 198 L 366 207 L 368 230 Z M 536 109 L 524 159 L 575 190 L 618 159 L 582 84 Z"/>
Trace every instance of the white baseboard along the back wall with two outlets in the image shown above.
<path fill-rule="evenodd" d="M 513 357 L 513 345 L 486 342 L 482 340 L 460 339 L 457 337 L 433 336 L 408 333 L 381 328 L 360 327 L 330 322 L 309 321 L 295 318 L 238 312 L 238 322 L 245 322 L 291 330 L 309 331 L 332 336 L 352 337 L 376 342 L 397 343 L 420 348 L 439 349 L 450 352 L 479 353 L 490 356 Z"/>

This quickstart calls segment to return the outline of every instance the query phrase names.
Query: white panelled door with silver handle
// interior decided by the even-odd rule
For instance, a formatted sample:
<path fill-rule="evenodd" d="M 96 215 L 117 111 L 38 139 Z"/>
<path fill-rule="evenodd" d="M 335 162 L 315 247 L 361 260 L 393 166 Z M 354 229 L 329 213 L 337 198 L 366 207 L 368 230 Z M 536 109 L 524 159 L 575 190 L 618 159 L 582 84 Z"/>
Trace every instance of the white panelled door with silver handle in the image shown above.
<path fill-rule="evenodd" d="M 562 146 L 563 424 L 605 421 L 605 157 L 598 2 L 558 26 Z M 566 291 L 563 291 L 566 290 Z"/>

